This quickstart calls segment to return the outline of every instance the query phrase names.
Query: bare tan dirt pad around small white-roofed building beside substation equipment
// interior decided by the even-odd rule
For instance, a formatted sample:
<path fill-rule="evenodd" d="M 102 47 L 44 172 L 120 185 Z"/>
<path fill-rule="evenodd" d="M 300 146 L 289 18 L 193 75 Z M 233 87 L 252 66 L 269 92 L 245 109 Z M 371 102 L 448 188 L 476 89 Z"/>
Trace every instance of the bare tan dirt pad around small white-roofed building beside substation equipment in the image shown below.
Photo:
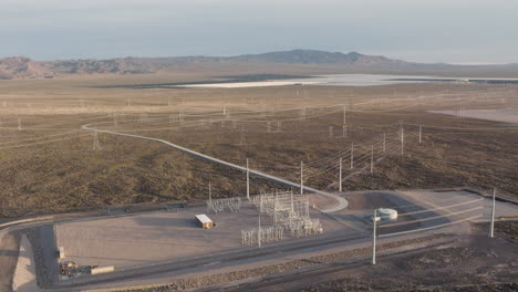
<path fill-rule="evenodd" d="M 258 226 L 255 208 L 244 206 L 239 212 L 207 213 L 216 223 L 209 230 L 199 228 L 195 221 L 195 215 L 205 212 L 205 207 L 196 207 L 179 212 L 60 223 L 55 227 L 58 246 L 64 247 L 65 260 L 116 269 L 251 248 L 241 244 L 240 231 Z M 315 210 L 311 210 L 311 217 L 321 220 L 323 236 L 353 231 Z M 262 215 L 261 225 L 271 226 L 271 219 Z M 291 240 L 289 233 L 282 242 L 287 240 Z"/>

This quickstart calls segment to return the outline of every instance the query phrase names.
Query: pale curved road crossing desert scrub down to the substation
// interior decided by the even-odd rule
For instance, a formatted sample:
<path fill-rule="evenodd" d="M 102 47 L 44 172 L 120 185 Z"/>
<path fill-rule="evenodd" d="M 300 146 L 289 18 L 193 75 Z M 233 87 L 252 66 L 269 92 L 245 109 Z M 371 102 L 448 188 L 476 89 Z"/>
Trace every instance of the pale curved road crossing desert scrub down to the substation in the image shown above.
<path fill-rule="evenodd" d="M 236 165 L 236 164 L 231 164 L 231 163 L 228 163 L 228 161 L 225 161 L 225 160 L 221 160 L 221 159 L 218 159 L 218 158 L 215 158 L 215 157 L 211 157 L 211 156 L 208 156 L 208 155 L 205 155 L 205 154 L 201 154 L 201 153 L 198 153 L 198 152 L 182 147 L 179 145 L 173 144 L 173 143 L 164 140 L 164 139 L 146 137 L 146 136 L 138 136 L 138 135 L 132 135 L 132 134 L 125 134 L 125 133 L 118 133 L 118 132 L 112 132 L 112 131 L 106 131 L 106 129 L 91 128 L 90 126 L 92 126 L 92 125 L 94 125 L 94 124 L 86 124 L 86 125 L 83 125 L 81 128 L 86 129 L 86 131 L 94 131 L 94 132 L 99 132 L 99 133 L 107 133 L 107 134 L 112 134 L 112 135 L 120 135 L 120 136 L 125 136 L 125 137 L 158 142 L 158 143 L 165 144 L 165 145 L 167 145 L 169 147 L 176 148 L 176 149 L 178 149 L 180 152 L 187 153 L 189 155 L 193 155 L 193 156 L 209 160 L 211 163 L 216 163 L 216 164 L 219 164 L 219 165 L 225 165 L 225 166 L 228 166 L 228 167 L 241 170 L 241 171 L 247 171 L 246 167 L 242 167 L 242 166 L 239 166 L 239 165 Z M 290 180 L 287 180 L 287 179 L 280 178 L 280 177 L 268 175 L 268 174 L 261 173 L 259 170 L 253 170 L 253 169 L 248 169 L 248 170 L 250 171 L 250 174 L 252 174 L 255 176 L 259 176 L 259 177 L 262 177 L 262 178 L 266 178 L 266 179 L 270 179 L 270 180 L 273 180 L 273 181 L 290 186 L 290 187 L 300 188 L 300 184 L 298 184 L 298 182 L 293 182 L 293 181 L 290 181 Z M 324 210 L 321 210 L 322 212 L 335 212 L 335 211 L 345 209 L 349 206 L 348 200 L 345 200 L 344 198 L 342 198 L 340 196 L 336 196 L 334 194 L 322 191 L 322 190 L 310 188 L 310 187 L 305 187 L 305 186 L 303 187 L 303 189 L 309 191 L 309 192 L 319 194 L 319 195 L 327 196 L 327 197 L 330 197 L 330 198 L 333 198 L 333 199 L 336 200 L 335 206 L 333 206 L 331 208 L 328 208 L 328 209 L 324 209 Z"/>

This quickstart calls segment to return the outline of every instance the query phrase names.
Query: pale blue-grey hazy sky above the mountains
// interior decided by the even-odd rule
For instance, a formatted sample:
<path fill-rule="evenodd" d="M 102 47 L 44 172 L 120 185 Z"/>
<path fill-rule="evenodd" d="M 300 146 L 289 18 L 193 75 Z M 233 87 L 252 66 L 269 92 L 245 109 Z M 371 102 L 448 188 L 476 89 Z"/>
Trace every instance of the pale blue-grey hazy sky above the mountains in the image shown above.
<path fill-rule="evenodd" d="M 0 56 L 358 51 L 518 63 L 517 0 L 0 0 Z"/>

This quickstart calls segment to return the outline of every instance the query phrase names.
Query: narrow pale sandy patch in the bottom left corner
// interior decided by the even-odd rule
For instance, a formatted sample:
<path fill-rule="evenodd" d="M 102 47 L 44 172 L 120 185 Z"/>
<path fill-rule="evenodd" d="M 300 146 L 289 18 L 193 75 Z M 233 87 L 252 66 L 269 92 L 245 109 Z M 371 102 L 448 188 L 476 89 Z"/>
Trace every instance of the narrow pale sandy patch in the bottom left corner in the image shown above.
<path fill-rule="evenodd" d="M 34 254 L 32 246 L 25 234 L 20 241 L 20 255 L 18 258 L 17 269 L 12 283 L 12 290 L 15 292 L 40 291 L 37 285 Z"/>

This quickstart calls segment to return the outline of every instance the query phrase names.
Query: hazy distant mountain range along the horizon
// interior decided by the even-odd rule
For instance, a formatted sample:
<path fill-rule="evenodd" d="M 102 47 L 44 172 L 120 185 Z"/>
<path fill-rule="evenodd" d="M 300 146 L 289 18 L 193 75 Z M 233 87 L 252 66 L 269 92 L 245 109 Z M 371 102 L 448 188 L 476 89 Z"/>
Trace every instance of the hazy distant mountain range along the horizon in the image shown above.
<path fill-rule="evenodd" d="M 381 55 L 356 52 L 340 53 L 315 50 L 292 50 L 237 56 L 172 56 L 172 58 L 120 58 L 110 60 L 33 61 L 24 56 L 0 59 L 0 80 L 51 79 L 60 74 L 144 74 L 177 70 L 178 66 L 203 62 L 261 62 L 286 64 L 313 64 L 322 66 L 363 70 L 445 70 L 459 67 L 444 63 L 425 64 L 393 60 Z M 496 66 L 516 66 L 496 65 Z"/>

